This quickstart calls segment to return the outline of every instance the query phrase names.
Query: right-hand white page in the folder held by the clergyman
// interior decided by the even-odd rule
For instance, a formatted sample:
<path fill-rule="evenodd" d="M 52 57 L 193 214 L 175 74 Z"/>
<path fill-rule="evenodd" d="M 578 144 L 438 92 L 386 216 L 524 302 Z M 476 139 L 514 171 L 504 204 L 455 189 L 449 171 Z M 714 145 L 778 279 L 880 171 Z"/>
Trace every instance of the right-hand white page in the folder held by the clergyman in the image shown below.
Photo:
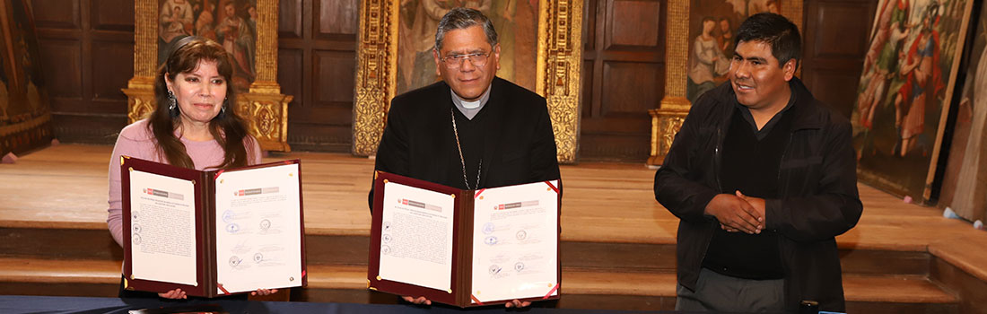
<path fill-rule="evenodd" d="M 556 295 L 558 181 L 481 190 L 474 199 L 473 296 Z"/>

